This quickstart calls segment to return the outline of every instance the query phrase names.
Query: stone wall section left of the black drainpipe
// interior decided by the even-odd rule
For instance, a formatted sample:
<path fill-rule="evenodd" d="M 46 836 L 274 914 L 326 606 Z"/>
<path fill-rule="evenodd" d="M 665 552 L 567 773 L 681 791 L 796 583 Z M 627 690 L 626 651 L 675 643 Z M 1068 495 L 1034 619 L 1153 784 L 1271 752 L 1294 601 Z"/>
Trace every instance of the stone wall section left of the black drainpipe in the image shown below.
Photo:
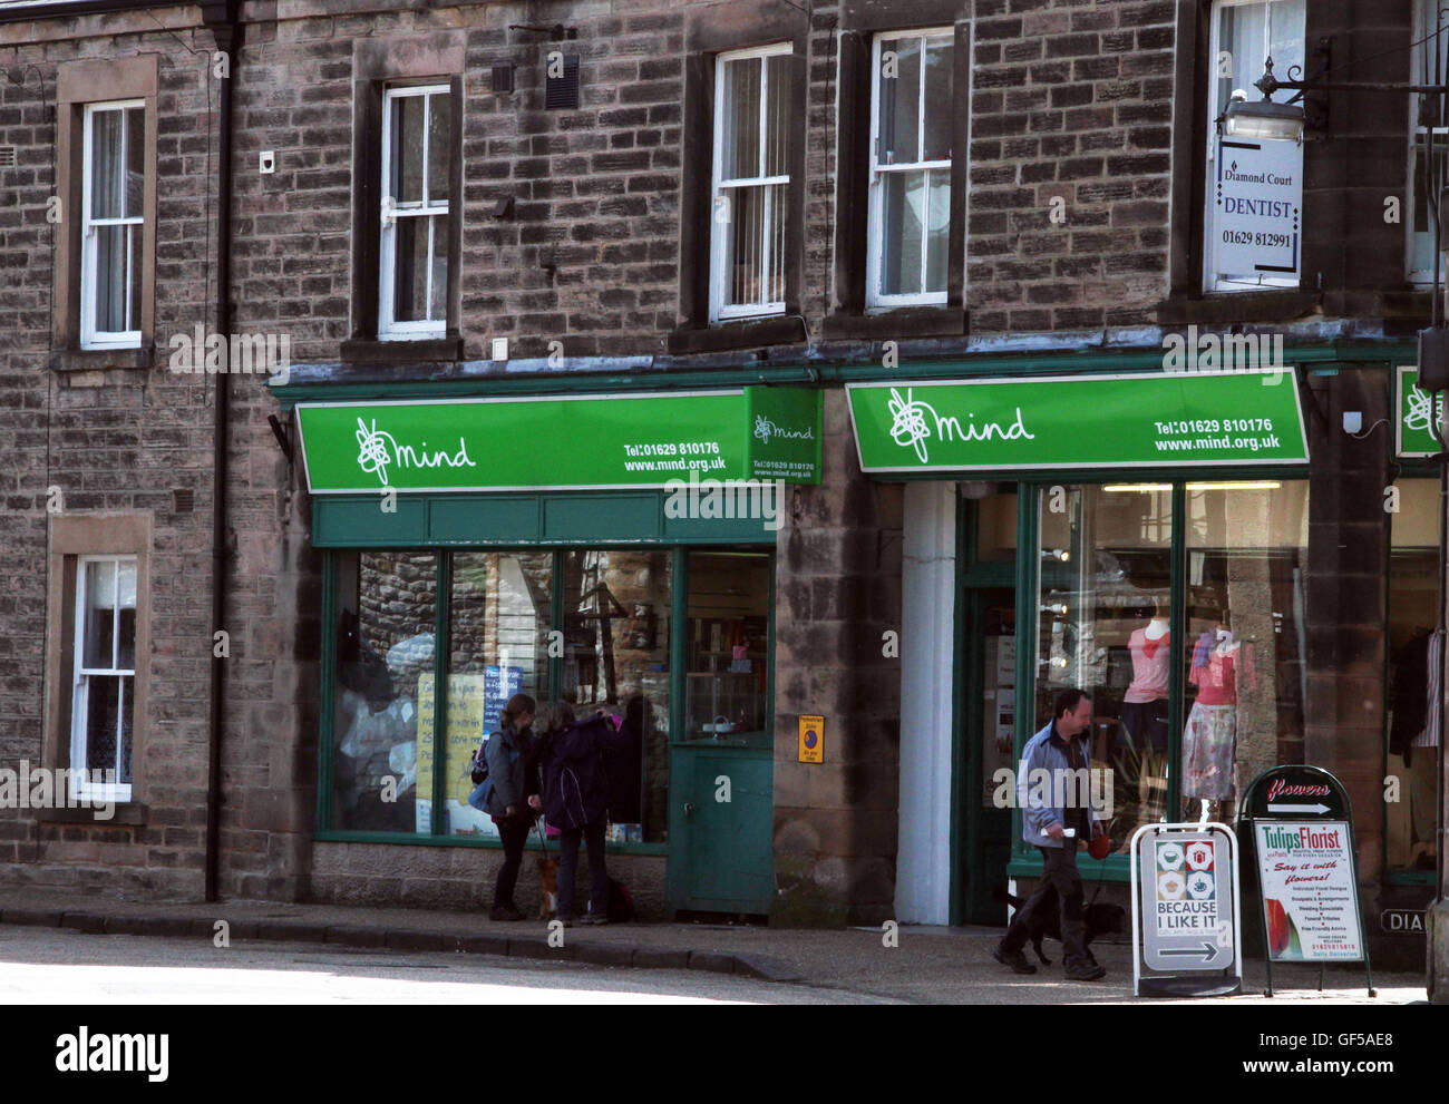
<path fill-rule="evenodd" d="M 138 753 L 148 778 L 143 826 L 38 824 L 0 810 L 0 881 L 55 884 L 155 897 L 201 888 L 206 820 L 209 582 L 212 571 L 212 381 L 159 369 L 61 371 L 51 351 L 57 65 L 83 58 L 159 54 L 156 174 L 156 332 L 209 320 L 214 287 L 216 88 L 203 74 L 209 36 L 191 17 L 78 16 L 0 26 L 0 765 L 41 766 L 45 703 L 48 487 L 70 516 L 152 516 L 149 716 Z M 164 26 L 175 26 L 177 35 Z M 180 39 L 180 41 L 178 41 Z M 97 99 L 103 99 L 99 96 Z M 207 193 L 213 191 L 210 210 Z M 78 212 L 61 212 L 75 219 Z M 159 343 L 159 342 L 158 342 Z M 191 495 L 177 509 L 175 491 Z"/>

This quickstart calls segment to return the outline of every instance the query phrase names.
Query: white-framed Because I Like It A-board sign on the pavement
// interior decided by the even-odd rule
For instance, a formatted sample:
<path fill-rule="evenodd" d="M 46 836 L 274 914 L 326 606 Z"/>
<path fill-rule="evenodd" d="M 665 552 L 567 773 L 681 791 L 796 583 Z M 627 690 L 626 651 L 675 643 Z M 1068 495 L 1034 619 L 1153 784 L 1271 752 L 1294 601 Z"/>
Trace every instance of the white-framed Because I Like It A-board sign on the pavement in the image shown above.
<path fill-rule="evenodd" d="M 1236 852 L 1226 824 L 1145 824 L 1133 835 L 1133 981 L 1139 995 L 1239 990 Z"/>

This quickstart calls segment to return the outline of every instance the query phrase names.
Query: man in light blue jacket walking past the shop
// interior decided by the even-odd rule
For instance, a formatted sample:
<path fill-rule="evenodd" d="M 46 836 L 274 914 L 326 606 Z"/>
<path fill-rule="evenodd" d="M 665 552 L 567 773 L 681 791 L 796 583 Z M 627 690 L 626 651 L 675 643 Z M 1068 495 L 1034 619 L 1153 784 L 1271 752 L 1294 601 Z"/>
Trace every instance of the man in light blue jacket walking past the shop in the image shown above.
<path fill-rule="evenodd" d="M 1036 974 L 1022 948 L 1026 946 L 1033 910 L 1042 907 L 1055 890 L 1062 910 L 1066 979 L 1097 981 L 1107 971 L 1087 953 L 1082 879 L 1077 872 L 1077 842 L 1106 830 L 1091 808 L 1090 787 L 1085 784 L 1091 758 L 1082 733 L 1091 726 L 1091 698 L 1084 690 L 1064 690 L 1056 695 L 1053 708 L 1052 722 L 1022 750 L 1016 778 L 1022 837 L 1042 852 L 1042 881 L 1017 910 L 991 956 L 1017 974 Z"/>

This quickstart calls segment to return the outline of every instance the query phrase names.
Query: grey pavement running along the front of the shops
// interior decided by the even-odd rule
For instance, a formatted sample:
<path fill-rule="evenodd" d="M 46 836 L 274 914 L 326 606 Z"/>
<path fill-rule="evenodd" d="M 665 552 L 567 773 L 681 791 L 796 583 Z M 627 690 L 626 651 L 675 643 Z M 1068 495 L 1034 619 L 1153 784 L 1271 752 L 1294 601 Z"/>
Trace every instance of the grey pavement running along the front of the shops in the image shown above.
<path fill-rule="evenodd" d="M 225 921 L 225 929 L 219 929 Z M 251 940 L 354 948 L 380 956 L 464 953 L 551 959 L 629 969 L 704 971 L 781 985 L 829 990 L 822 998 L 952 1004 L 1153 1003 L 1132 992 L 1127 940 L 1093 945 L 1107 977 L 1065 981 L 1061 945 L 1048 942 L 1053 965 L 1020 977 L 991 959 L 1000 927 L 880 927 L 820 930 L 727 924 L 609 924 L 551 930 L 548 921 L 490 921 L 481 913 L 277 901 L 126 901 L 70 890 L 0 888 L 0 924 L 70 929 L 77 933 L 194 939 L 214 945 L 225 930 L 233 943 Z M 1030 949 L 1027 950 L 1030 953 Z M 480 959 L 484 961 L 484 959 Z M 0 971 L 6 969 L 0 946 Z M 1411 1004 L 1426 1000 L 1420 974 L 1375 974 L 1369 997 L 1362 966 L 1335 966 L 1324 990 L 1311 968 L 1282 968 L 1275 1003 Z M 1261 962 L 1249 961 L 1240 995 L 1203 1003 L 1256 1004 L 1264 997 Z M 791 994 L 796 1000 L 798 994 Z M 1194 1003 L 1164 1001 L 1156 1003 Z"/>

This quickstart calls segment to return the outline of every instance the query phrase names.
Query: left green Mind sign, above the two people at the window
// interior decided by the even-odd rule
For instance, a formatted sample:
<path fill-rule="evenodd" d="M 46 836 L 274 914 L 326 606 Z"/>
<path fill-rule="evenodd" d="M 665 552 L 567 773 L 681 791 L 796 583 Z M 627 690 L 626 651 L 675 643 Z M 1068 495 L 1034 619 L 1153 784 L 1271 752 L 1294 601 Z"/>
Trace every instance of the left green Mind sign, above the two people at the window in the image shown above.
<path fill-rule="evenodd" d="M 313 494 L 820 481 L 806 388 L 298 403 L 297 425 Z"/>

